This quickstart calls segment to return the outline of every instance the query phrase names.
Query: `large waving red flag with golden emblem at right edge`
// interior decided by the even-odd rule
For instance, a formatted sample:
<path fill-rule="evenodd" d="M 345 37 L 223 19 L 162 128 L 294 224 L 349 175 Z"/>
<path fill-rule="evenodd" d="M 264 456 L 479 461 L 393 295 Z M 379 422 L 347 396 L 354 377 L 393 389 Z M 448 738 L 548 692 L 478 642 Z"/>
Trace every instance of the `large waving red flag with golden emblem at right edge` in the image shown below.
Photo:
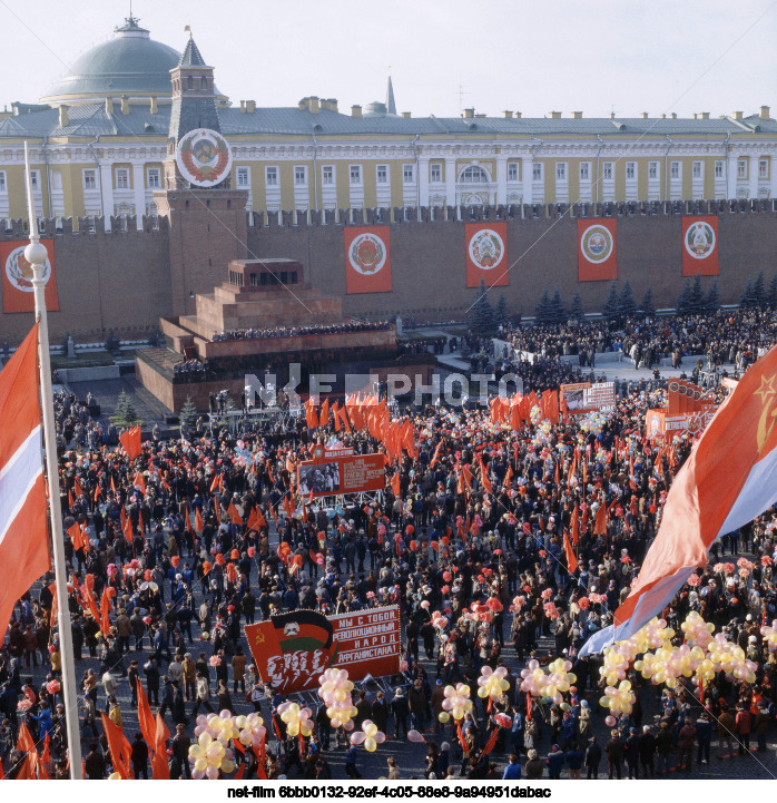
<path fill-rule="evenodd" d="M 715 541 L 777 502 L 777 346 L 720 405 L 669 489 L 631 594 L 580 655 L 629 638 L 659 614 Z"/>

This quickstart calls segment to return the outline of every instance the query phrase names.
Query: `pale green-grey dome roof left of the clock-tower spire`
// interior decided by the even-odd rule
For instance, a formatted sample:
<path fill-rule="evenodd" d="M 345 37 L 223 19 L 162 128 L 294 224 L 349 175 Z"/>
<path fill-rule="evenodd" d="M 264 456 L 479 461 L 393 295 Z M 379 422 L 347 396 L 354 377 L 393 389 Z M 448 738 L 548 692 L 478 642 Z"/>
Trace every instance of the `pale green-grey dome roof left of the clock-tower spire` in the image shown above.
<path fill-rule="evenodd" d="M 112 39 L 78 58 L 41 102 L 94 102 L 94 96 L 170 96 L 170 70 L 179 60 L 177 50 L 154 41 L 149 31 L 129 17 L 115 29 Z"/>

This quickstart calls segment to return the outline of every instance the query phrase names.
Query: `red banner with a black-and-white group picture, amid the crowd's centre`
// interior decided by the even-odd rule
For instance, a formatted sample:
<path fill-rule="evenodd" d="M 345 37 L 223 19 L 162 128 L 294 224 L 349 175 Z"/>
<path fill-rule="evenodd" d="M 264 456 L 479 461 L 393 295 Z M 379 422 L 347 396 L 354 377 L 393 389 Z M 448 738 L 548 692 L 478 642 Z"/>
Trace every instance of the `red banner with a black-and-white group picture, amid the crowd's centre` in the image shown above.
<path fill-rule="evenodd" d="M 321 460 L 297 466 L 297 483 L 303 497 L 382 491 L 386 483 L 383 454 L 338 454 L 327 450 Z"/>

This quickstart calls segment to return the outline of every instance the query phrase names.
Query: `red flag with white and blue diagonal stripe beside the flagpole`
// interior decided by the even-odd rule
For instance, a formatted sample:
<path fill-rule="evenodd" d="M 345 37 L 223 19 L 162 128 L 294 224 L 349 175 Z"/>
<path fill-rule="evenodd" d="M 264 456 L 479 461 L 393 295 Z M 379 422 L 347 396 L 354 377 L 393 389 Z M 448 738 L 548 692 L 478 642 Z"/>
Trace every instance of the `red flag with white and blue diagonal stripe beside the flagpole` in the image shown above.
<path fill-rule="evenodd" d="M 38 324 L 0 372 L 0 638 L 13 605 L 49 570 Z"/>

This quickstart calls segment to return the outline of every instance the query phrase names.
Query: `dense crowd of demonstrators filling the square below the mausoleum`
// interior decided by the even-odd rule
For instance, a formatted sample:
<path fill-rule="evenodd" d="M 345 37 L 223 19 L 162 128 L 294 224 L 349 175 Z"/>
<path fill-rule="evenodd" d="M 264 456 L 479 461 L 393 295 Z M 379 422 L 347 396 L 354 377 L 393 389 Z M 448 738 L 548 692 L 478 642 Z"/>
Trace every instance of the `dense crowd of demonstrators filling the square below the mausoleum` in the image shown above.
<path fill-rule="evenodd" d="M 770 322 L 760 325 L 770 331 Z M 712 323 L 695 332 L 701 329 L 712 331 Z M 535 353 L 545 349 L 527 369 L 531 389 L 565 381 L 565 363 L 551 353 L 565 335 L 521 329 L 513 336 Z M 171 777 L 190 776 L 197 715 L 225 709 L 257 711 L 268 724 L 262 766 L 249 750 L 236 754 L 244 777 L 358 777 L 363 748 L 331 727 L 325 706 L 314 706 L 309 737 L 287 737 L 277 716 L 286 698 L 265 685 L 249 654 L 246 624 L 297 608 L 334 614 L 400 606 L 400 670 L 386 678 L 390 685 L 367 684 L 354 699 L 357 725 L 372 719 L 389 736 L 378 747 L 385 770 L 377 774 L 385 777 L 652 776 L 689 773 L 694 761 L 710 755 L 745 761 L 734 756 L 755 750 L 750 734 L 766 750 L 777 711 L 777 654 L 760 631 L 777 617 L 774 511 L 716 544 L 709 565 L 662 611 L 678 644 L 690 611 L 714 624 L 757 662 L 755 683 L 720 672 L 701 691 L 685 680 L 670 688 L 630 667 L 637 702 L 611 726 L 599 706 L 602 658 L 579 655 L 628 595 L 692 447 L 686 438 L 668 444 L 646 439 L 646 410 L 663 402 L 665 391 L 635 388 L 610 413 L 552 424 L 538 410 L 519 430 L 494 423 L 488 409 L 414 408 L 407 415 L 416 448 L 393 461 L 382 499 L 328 509 L 313 509 L 296 493 L 296 463 L 321 440 L 336 439 L 356 453 L 384 450 L 366 429 L 335 432 L 332 420 L 309 430 L 304 418 L 282 429 L 269 421 L 239 435 L 147 440 L 132 462 L 99 439 L 66 439 L 67 605 L 81 669 L 88 777 L 110 772 L 100 714 L 119 726 L 134 721 L 138 683 L 169 724 Z M 69 396 L 59 396 L 57 409 L 62 429 L 71 420 L 92 425 Z M 233 511 L 246 522 L 257 509 L 264 523 L 256 529 L 234 523 Z M 578 567 L 570 571 L 563 539 L 573 529 Z M 287 552 L 278 549 L 282 542 Z M 730 562 L 727 555 L 735 556 Z M 0 652 L 9 776 L 21 765 L 14 748 L 22 721 L 39 750 L 49 736 L 52 776 L 67 773 L 57 688 L 62 656 L 49 584 L 45 578 L 20 600 Z M 85 587 L 109 600 L 99 621 Z M 527 694 L 521 670 L 558 657 L 571 663 L 577 678 L 561 702 Z M 474 694 L 484 666 L 506 670 L 508 688 L 493 705 Z M 440 718 L 444 688 L 458 683 L 470 686 L 474 702 L 461 735 Z M 491 746 L 500 714 L 510 725 L 498 728 Z M 414 742 L 416 734 L 425 745 Z M 127 736 L 136 776 L 148 776 L 148 746 Z"/>

